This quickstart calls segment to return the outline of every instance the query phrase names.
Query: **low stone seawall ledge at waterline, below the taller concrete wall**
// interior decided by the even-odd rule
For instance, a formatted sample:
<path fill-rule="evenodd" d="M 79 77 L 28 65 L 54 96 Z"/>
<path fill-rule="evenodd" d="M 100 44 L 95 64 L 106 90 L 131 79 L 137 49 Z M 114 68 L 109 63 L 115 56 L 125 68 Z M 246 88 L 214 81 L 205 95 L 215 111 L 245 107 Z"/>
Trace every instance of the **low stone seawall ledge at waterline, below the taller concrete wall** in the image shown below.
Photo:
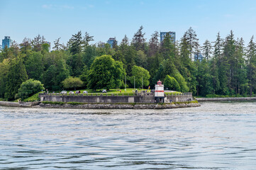
<path fill-rule="evenodd" d="M 161 109 L 161 108 L 189 108 L 189 107 L 198 107 L 201 106 L 200 103 L 194 102 L 184 102 L 184 103 L 165 103 L 165 104 L 157 104 L 157 103 L 134 103 L 134 104 L 126 104 L 126 103 L 84 103 L 81 105 L 71 105 L 71 104 L 48 104 L 48 103 L 40 103 L 40 107 L 43 108 L 129 108 L 129 109 Z"/>

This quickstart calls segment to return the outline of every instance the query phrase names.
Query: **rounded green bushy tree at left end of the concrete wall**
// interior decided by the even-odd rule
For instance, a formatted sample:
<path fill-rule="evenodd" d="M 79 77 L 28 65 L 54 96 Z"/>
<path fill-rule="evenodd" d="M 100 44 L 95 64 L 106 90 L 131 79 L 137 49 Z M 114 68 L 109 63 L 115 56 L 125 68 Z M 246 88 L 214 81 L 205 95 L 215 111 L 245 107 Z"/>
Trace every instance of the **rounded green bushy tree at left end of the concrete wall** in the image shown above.
<path fill-rule="evenodd" d="M 21 100 L 23 100 L 40 92 L 41 90 L 45 90 L 45 88 L 40 81 L 28 79 L 21 84 L 21 87 L 18 89 L 18 94 L 16 94 L 16 98 L 21 98 Z"/>

